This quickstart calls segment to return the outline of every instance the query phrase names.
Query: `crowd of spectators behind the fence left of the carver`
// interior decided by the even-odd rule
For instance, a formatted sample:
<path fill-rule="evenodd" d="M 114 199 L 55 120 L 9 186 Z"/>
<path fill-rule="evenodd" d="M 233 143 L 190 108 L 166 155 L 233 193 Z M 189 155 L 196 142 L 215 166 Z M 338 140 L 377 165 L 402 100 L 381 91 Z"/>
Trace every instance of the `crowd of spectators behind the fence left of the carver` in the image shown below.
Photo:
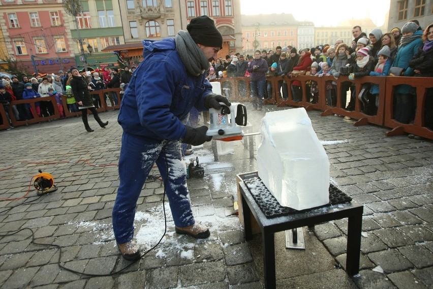
<path fill-rule="evenodd" d="M 121 75 L 119 69 L 105 67 L 101 72 L 80 71 L 80 74 L 86 76 L 92 90 L 114 89 L 121 88 L 120 95 L 125 92 L 135 66 L 125 66 Z M 26 121 L 35 117 L 49 117 L 54 114 L 54 107 L 51 101 L 43 100 L 44 97 L 54 96 L 56 99 L 57 109 L 60 112 L 60 118 L 65 118 L 65 110 L 69 112 L 78 112 L 78 105 L 71 90 L 71 70 L 58 71 L 57 74 L 47 74 L 44 77 L 27 77 L 26 75 L 18 79 L 16 75 L 11 78 L 3 76 L 0 80 L 0 103 L 3 104 L 7 111 L 7 119 L 9 128 L 12 129 L 12 121 L 9 115 L 9 106 L 14 100 L 41 98 L 40 102 L 35 105 L 35 110 L 29 104 L 12 105 L 12 111 L 17 121 Z M 67 106 L 63 107 L 62 97 L 66 97 Z M 105 94 L 107 103 L 111 106 L 118 105 L 118 97 L 116 91 Z M 101 99 L 99 95 L 92 95 L 96 108 L 101 107 Z M 1 120 L 0 120 L 1 121 Z"/>

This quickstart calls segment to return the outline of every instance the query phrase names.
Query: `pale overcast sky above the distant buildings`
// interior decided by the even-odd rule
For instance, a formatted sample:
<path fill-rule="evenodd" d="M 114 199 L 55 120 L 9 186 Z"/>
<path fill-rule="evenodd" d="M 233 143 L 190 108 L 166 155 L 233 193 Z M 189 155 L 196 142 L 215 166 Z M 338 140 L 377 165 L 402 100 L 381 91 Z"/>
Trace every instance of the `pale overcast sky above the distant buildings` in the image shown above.
<path fill-rule="evenodd" d="M 243 15 L 287 13 L 315 26 L 336 26 L 345 19 L 371 18 L 377 26 L 385 22 L 390 0 L 240 0 Z M 350 11 L 350 12 L 349 12 Z"/>

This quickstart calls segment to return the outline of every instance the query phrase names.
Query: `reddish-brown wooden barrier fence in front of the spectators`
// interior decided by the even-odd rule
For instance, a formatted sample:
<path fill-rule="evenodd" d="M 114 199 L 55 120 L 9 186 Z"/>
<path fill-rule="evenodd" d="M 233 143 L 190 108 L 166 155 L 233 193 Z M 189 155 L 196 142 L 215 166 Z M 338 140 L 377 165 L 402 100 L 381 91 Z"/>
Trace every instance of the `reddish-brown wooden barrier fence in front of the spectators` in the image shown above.
<path fill-rule="evenodd" d="M 265 99 L 264 104 L 276 104 L 279 107 L 283 106 L 296 106 L 304 107 L 306 110 L 323 110 L 322 116 L 339 114 L 351 119 L 357 120 L 355 126 L 375 124 L 380 126 L 386 126 L 392 130 L 387 132 L 386 135 L 398 135 L 404 133 L 411 133 L 419 135 L 428 139 L 433 139 L 433 130 L 424 126 L 424 106 L 426 99 L 427 89 L 433 89 L 433 82 L 431 78 L 426 77 L 390 77 L 390 76 L 365 76 L 350 80 L 347 76 L 338 77 L 335 79 L 332 76 L 297 76 L 297 77 L 267 77 L 267 82 L 270 82 L 272 86 L 272 95 L 270 99 Z M 279 81 L 284 80 L 283 85 L 287 85 L 288 98 L 287 100 L 281 99 L 279 91 Z M 293 94 L 291 90 L 291 84 L 293 81 L 298 80 L 301 83 L 302 88 L 302 100 L 295 102 L 293 100 Z M 318 103 L 312 103 L 310 95 L 307 95 L 307 81 L 316 81 L 319 90 Z M 223 78 L 215 81 L 221 82 L 222 94 L 227 96 L 232 102 L 248 102 L 251 101 L 251 84 L 249 77 L 234 77 L 234 78 Z M 332 81 L 336 85 L 336 105 L 330 106 L 326 103 L 326 81 Z M 350 82 L 352 88 L 355 89 L 355 108 L 353 111 L 346 110 L 346 103 L 342 103 L 341 91 L 344 83 Z M 379 105 L 376 115 L 368 115 L 361 111 L 361 102 L 358 99 L 359 91 L 364 83 L 374 83 L 379 85 Z M 399 84 L 410 84 L 416 88 L 416 111 L 415 120 L 411 124 L 402 124 L 394 120 L 394 86 Z M 266 89 L 266 88 L 265 88 Z M 118 104 L 112 106 L 107 104 L 107 97 L 111 92 L 115 92 L 118 100 Z M 99 96 L 101 99 L 101 107 L 98 108 L 99 112 L 114 110 L 120 107 L 120 89 L 106 89 L 92 92 L 92 95 Z M 349 99 L 350 96 L 347 96 Z M 48 98 L 45 98 L 48 99 Z M 54 106 L 54 115 L 46 118 L 39 118 L 37 115 L 32 120 L 17 121 L 15 120 L 12 112 L 11 105 L 28 103 L 35 110 L 35 103 L 40 102 L 41 98 L 31 100 L 20 100 L 13 101 L 9 107 L 9 115 L 12 120 L 13 126 L 29 125 L 39 122 L 50 121 L 52 119 L 59 118 L 59 112 L 55 103 L 54 97 L 49 98 Z M 66 105 L 66 97 L 63 98 L 64 110 L 66 117 L 77 117 L 81 112 L 69 112 Z M 0 106 L 0 113 L 2 114 L 3 125 L 0 125 L 0 130 L 7 129 L 9 124 L 4 113 L 3 106 Z"/>

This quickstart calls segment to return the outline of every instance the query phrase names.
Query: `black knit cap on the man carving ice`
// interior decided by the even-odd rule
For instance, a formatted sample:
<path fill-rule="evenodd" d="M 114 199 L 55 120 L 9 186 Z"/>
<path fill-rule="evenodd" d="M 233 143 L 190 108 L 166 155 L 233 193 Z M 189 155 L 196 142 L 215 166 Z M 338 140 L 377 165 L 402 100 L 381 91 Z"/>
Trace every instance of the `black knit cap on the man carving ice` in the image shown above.
<path fill-rule="evenodd" d="M 187 30 L 195 43 L 223 48 L 223 36 L 215 26 L 215 22 L 206 15 L 191 19 Z"/>

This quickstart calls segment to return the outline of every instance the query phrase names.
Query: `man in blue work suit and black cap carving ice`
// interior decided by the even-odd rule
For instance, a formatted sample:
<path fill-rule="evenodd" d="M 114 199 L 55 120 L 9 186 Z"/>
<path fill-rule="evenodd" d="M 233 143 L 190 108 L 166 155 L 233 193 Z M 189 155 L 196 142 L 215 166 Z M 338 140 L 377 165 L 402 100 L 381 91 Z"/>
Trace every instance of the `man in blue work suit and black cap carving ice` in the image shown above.
<path fill-rule="evenodd" d="M 205 71 L 217 59 L 223 37 L 207 16 L 194 18 L 186 31 L 159 41 L 143 40 L 143 61 L 123 95 L 117 121 L 123 129 L 120 184 L 113 207 L 113 230 L 123 258 L 141 257 L 133 241 L 137 200 L 156 163 L 164 182 L 177 234 L 209 237 L 195 221 L 187 188 L 181 143 L 199 146 L 212 137 L 207 127 L 186 126 L 190 110 L 222 109 L 226 97 L 212 93 Z"/>

